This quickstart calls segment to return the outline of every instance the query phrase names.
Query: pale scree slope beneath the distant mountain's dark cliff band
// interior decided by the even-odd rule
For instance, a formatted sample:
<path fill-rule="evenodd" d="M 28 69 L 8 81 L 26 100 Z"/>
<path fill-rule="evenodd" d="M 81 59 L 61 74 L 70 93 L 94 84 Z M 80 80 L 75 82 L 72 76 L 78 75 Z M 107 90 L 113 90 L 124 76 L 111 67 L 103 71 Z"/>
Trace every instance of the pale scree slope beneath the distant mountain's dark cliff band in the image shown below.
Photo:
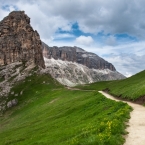
<path fill-rule="evenodd" d="M 43 71 L 50 73 L 53 78 L 67 86 L 124 78 L 122 74 L 109 69 L 90 69 L 76 62 L 55 60 L 54 58 L 44 57 L 44 61 L 46 69 Z"/>

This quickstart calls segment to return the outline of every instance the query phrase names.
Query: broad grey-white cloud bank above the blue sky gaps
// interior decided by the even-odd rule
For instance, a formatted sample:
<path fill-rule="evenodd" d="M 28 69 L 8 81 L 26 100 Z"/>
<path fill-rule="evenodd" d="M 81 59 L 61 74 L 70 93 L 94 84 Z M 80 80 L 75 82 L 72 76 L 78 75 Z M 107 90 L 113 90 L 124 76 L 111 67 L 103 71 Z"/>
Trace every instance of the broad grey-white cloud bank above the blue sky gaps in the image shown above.
<path fill-rule="evenodd" d="M 144 0 L 1 0 L 0 5 L 26 11 L 43 39 L 51 37 L 58 28 L 71 31 L 73 22 L 87 33 L 103 30 L 145 38 Z"/>

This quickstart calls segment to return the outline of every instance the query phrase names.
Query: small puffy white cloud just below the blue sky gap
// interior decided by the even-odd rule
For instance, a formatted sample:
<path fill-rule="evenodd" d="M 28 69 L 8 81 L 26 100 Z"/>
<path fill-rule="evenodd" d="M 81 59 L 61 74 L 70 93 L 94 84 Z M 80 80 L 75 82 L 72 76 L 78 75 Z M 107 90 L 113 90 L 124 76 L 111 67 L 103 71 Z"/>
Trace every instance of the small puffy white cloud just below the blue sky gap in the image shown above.
<path fill-rule="evenodd" d="M 93 38 L 91 36 L 79 36 L 76 38 L 76 43 L 81 45 L 91 45 L 93 43 Z"/>

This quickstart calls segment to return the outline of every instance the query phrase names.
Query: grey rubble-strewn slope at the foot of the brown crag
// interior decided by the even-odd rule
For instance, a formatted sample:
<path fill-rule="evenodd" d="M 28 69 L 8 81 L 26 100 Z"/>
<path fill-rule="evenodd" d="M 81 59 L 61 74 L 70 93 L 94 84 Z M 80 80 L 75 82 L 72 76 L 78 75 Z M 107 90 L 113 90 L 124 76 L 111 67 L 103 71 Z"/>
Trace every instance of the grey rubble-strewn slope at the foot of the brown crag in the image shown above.
<path fill-rule="evenodd" d="M 31 71 L 36 65 L 33 62 L 27 62 L 24 64 L 22 62 L 15 62 L 9 65 L 0 67 L 0 112 L 2 113 L 7 108 L 17 105 L 18 100 L 9 100 L 8 94 L 11 93 L 14 96 L 21 95 L 15 94 L 15 92 L 10 92 L 11 88 L 19 81 L 24 80 L 27 76 L 31 76 Z M 9 101 L 8 101 L 9 100 Z"/>

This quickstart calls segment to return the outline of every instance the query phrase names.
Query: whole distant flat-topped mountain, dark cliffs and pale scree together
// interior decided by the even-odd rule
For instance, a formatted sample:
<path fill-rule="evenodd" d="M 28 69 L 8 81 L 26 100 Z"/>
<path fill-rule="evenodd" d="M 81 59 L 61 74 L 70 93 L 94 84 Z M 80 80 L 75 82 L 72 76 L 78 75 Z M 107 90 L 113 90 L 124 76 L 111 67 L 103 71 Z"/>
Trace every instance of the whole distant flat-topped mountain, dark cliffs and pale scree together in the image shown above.
<path fill-rule="evenodd" d="M 124 79 L 115 67 L 94 53 L 78 47 L 49 47 L 42 43 L 47 73 L 67 86 Z"/>

